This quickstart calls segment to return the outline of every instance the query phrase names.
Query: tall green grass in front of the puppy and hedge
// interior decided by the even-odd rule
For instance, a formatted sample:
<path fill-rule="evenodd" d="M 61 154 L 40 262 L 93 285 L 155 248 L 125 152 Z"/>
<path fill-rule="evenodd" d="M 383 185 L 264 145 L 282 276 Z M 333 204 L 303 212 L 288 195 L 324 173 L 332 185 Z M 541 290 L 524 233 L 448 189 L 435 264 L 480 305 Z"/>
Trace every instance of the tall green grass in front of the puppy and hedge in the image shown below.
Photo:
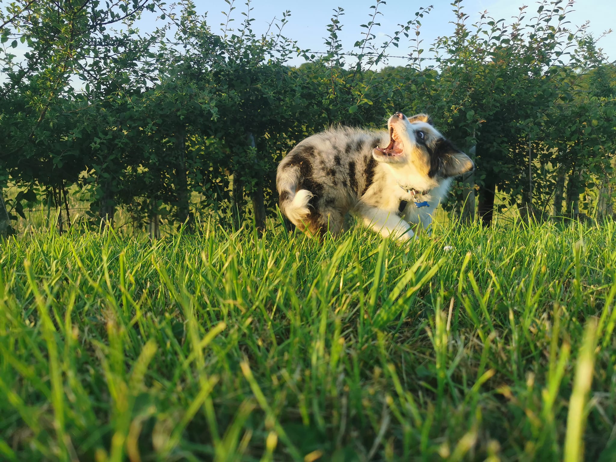
<path fill-rule="evenodd" d="M 616 460 L 615 234 L 11 238 L 0 460 Z"/>

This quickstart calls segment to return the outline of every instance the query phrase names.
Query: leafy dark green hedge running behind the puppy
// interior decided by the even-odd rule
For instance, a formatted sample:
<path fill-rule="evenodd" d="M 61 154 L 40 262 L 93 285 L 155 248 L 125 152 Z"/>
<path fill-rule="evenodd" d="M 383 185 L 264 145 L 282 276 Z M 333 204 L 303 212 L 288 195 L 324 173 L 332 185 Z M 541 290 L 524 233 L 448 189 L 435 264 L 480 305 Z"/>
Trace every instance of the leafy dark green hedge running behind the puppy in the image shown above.
<path fill-rule="evenodd" d="M 570 27 L 572 2 L 470 25 L 455 0 L 455 32 L 426 50 L 431 7 L 378 43 L 375 0 L 351 51 L 339 8 L 317 53 L 285 35 L 290 12 L 260 36 L 250 3 L 231 28 L 225 1 L 218 32 L 190 0 L 0 4 L 1 233 L 41 198 L 70 225 L 75 185 L 97 225 L 123 208 L 155 233 L 163 219 L 192 229 L 197 211 L 263 228 L 294 144 L 337 123 L 381 127 L 397 110 L 430 113 L 474 156 L 447 205 L 463 221 L 489 225 L 497 192 L 522 217 L 613 213 L 616 68 L 585 27 Z M 144 15 L 157 15 L 155 32 L 137 30 Z M 386 66 L 409 49 L 405 67 Z M 306 63 L 288 65 L 298 55 Z M 17 195 L 2 198 L 7 185 Z"/>

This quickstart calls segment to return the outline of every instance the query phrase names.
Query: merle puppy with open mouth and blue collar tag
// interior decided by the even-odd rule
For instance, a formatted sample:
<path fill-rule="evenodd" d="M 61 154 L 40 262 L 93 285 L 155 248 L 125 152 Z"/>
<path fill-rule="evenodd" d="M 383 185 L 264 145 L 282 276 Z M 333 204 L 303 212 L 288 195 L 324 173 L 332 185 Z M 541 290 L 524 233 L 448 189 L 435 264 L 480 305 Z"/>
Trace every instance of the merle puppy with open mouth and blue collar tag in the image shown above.
<path fill-rule="evenodd" d="M 408 240 L 432 222 L 453 177 L 474 169 L 428 115 L 397 112 L 388 131 L 336 128 L 310 136 L 278 165 L 283 214 L 304 232 L 342 230 L 351 212 L 383 237 Z"/>

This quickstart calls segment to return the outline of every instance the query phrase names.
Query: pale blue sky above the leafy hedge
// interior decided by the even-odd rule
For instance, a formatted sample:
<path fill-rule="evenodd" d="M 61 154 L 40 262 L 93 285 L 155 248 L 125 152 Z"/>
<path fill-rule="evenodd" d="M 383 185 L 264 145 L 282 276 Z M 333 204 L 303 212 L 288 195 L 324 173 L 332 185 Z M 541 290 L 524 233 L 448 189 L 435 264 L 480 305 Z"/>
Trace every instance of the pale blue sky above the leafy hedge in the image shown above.
<path fill-rule="evenodd" d="M 213 31 L 219 31 L 220 23 L 224 20 L 221 10 L 228 9 L 228 5 L 224 0 L 196 0 L 197 11 L 200 14 L 208 13 L 208 24 Z M 566 4 L 566 0 L 563 4 Z M 422 20 L 421 36 L 424 39 L 422 44 L 424 49 L 428 49 L 429 44 L 437 38 L 437 36 L 451 34 L 453 25 L 450 21 L 454 15 L 451 0 L 428 0 L 419 2 L 416 0 L 387 0 L 386 5 L 381 7 L 383 12 L 379 16 L 381 27 L 376 31 L 377 39 L 382 43 L 385 35 L 396 29 L 397 24 L 406 23 L 411 18 L 415 17 L 415 12 L 419 6 L 434 5 L 434 9 L 429 15 L 426 15 Z M 243 16 L 240 12 L 245 10 L 245 0 L 236 0 L 235 6 L 237 9 L 233 12 L 235 22 L 233 26 L 239 26 Z M 257 33 L 263 33 L 267 30 L 267 24 L 274 17 L 281 17 L 281 13 L 285 10 L 291 10 L 290 22 L 286 26 L 285 34 L 289 38 L 298 41 L 302 48 L 309 48 L 314 51 L 325 51 L 326 46 L 323 44 L 323 37 L 326 36 L 326 25 L 330 22 L 332 10 L 334 7 L 344 8 L 344 16 L 342 23 L 344 28 L 339 34 L 346 50 L 352 49 L 353 44 L 360 38 L 360 34 L 365 29 L 360 28 L 360 24 L 365 24 L 368 21 L 368 15 L 372 11 L 370 6 L 375 4 L 375 0 L 252 0 L 251 6 L 254 8 L 251 16 L 255 18 L 253 30 Z M 537 11 L 535 1 L 524 0 L 465 0 L 463 2 L 464 12 L 470 15 L 469 23 L 475 22 L 480 17 L 480 12 L 488 10 L 488 13 L 496 19 L 505 18 L 510 21 L 511 17 L 519 13 L 519 7 L 527 4 L 526 20 Z M 616 25 L 616 0 L 578 0 L 573 6 L 574 12 L 567 16 L 571 25 L 580 26 L 586 21 L 590 21 L 589 31 L 594 36 L 601 35 L 604 31 Z M 145 15 L 140 23 L 140 28 L 143 31 L 152 30 L 155 27 L 155 22 L 152 15 Z M 392 54 L 407 54 L 406 44 L 400 44 L 400 49 L 392 48 Z M 616 32 L 608 34 L 599 42 L 599 47 L 604 49 L 610 60 L 616 59 Z M 303 62 L 302 59 L 293 60 L 293 63 L 298 64 Z M 403 60 L 392 60 L 392 64 L 404 64 Z"/>

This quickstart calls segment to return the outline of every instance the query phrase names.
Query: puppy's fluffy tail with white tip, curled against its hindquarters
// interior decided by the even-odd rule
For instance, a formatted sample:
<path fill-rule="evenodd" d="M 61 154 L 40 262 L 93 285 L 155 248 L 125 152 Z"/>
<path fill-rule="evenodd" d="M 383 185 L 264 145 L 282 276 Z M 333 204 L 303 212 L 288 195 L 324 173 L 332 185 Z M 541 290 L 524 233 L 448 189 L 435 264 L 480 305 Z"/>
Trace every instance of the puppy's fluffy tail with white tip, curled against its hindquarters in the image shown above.
<path fill-rule="evenodd" d="M 280 210 L 296 226 L 310 214 L 309 202 L 314 194 L 307 189 L 297 190 L 299 171 L 285 161 L 278 166 L 276 186 L 280 196 Z"/>

